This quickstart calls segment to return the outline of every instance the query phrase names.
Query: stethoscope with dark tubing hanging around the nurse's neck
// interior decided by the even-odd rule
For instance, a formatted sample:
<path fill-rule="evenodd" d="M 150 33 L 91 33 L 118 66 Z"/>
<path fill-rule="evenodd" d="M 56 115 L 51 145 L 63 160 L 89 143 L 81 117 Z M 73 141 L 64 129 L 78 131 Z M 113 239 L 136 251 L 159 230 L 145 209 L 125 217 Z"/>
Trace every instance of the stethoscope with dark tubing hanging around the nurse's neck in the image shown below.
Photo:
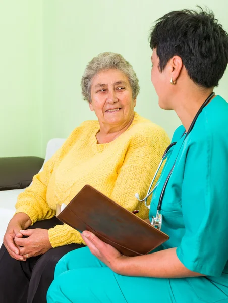
<path fill-rule="evenodd" d="M 204 101 L 204 103 L 202 104 L 202 106 L 201 106 L 200 109 L 198 110 L 196 116 L 194 117 L 194 119 L 193 119 L 193 121 L 192 121 L 192 123 L 191 123 L 191 125 L 190 125 L 190 127 L 189 127 L 189 130 L 188 130 L 187 132 L 185 131 L 185 132 L 183 133 L 182 137 L 183 137 L 185 134 L 186 134 L 186 136 L 185 136 L 185 138 L 184 138 L 184 140 L 183 140 L 183 142 L 182 142 L 182 144 L 181 144 L 181 147 L 182 147 L 182 145 L 183 145 L 183 143 L 184 143 L 186 137 L 187 137 L 187 136 L 190 134 L 190 132 L 192 131 L 192 129 L 193 129 L 195 123 L 196 123 L 196 120 L 197 120 L 197 118 L 199 117 L 199 114 L 202 112 L 203 108 L 210 102 L 210 100 L 213 98 L 214 95 L 215 95 L 215 93 L 212 92 L 212 93 L 207 97 L 207 99 Z M 142 199 L 142 200 L 140 200 L 139 194 L 138 194 L 138 193 L 135 194 L 135 197 L 136 197 L 140 202 L 143 202 L 143 201 L 144 201 L 145 206 L 146 206 L 148 209 L 150 209 L 150 205 L 147 205 L 147 199 L 148 199 L 148 197 L 154 192 L 154 190 L 157 188 L 157 186 L 158 186 L 158 184 L 159 184 L 159 181 L 158 181 L 158 183 L 155 185 L 155 187 L 151 190 L 151 188 L 152 188 L 152 186 L 153 186 L 153 183 L 154 183 L 154 180 L 155 180 L 155 178 L 156 178 L 156 176 L 157 176 L 157 174 L 158 174 L 158 172 L 159 172 L 159 170 L 160 170 L 160 167 L 162 166 L 162 163 L 163 163 L 164 160 L 167 158 L 168 154 L 172 152 L 170 149 L 171 149 L 173 146 L 175 146 L 176 144 L 177 144 L 177 142 L 173 142 L 173 143 L 171 143 L 170 145 L 168 145 L 168 147 L 165 149 L 164 154 L 163 154 L 162 159 L 161 159 L 161 162 L 160 162 L 159 165 L 158 165 L 158 168 L 157 168 L 157 170 L 156 170 L 156 172 L 155 172 L 155 174 L 154 174 L 154 177 L 153 177 L 153 179 L 152 179 L 152 182 L 150 183 L 150 187 L 149 187 L 149 190 L 148 190 L 147 195 L 145 196 L 145 198 Z M 180 150 L 181 150 L 181 147 L 180 147 Z M 180 150 L 179 150 L 179 151 L 180 151 Z M 178 155 L 179 155 L 179 153 L 178 153 Z M 161 229 L 161 226 L 162 226 L 162 215 L 160 214 L 161 205 L 162 205 L 163 197 L 164 197 L 164 194 L 165 194 L 165 189 L 166 189 L 167 184 L 168 184 L 168 180 L 170 179 L 170 176 L 172 175 L 172 172 L 173 172 L 173 170 L 174 170 L 175 163 L 176 163 L 176 161 L 177 161 L 178 155 L 177 155 L 177 157 L 176 157 L 176 159 L 175 159 L 175 161 L 174 161 L 174 164 L 173 164 L 172 168 L 170 169 L 170 172 L 168 173 L 168 176 L 167 176 L 167 178 L 166 178 L 166 180 L 165 180 L 165 182 L 164 182 L 164 185 L 163 185 L 163 187 L 162 187 L 161 194 L 160 194 L 159 201 L 158 201 L 158 205 L 157 205 L 156 217 L 154 217 L 154 216 L 152 217 L 151 225 L 154 226 L 154 227 L 157 228 L 157 229 Z M 150 191 L 150 190 L 151 190 L 151 191 Z"/>

